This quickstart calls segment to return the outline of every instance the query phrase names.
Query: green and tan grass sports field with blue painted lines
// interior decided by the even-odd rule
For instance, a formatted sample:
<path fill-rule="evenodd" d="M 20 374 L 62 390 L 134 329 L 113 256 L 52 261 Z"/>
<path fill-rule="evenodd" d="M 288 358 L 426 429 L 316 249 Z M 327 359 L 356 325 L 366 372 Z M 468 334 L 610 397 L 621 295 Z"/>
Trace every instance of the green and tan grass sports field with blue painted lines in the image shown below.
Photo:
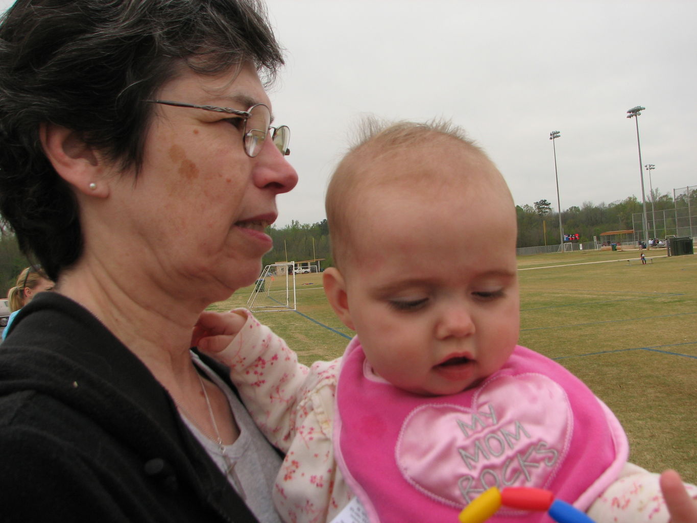
<path fill-rule="evenodd" d="M 519 257 L 520 344 L 555 358 L 608 404 L 632 462 L 697 483 L 697 257 L 665 255 L 649 250 L 647 265 L 636 250 Z M 340 356 L 352 332 L 325 300 L 321 274 L 296 275 L 296 289 L 297 312 L 256 317 L 303 363 Z M 210 309 L 243 307 L 251 292 Z"/>

